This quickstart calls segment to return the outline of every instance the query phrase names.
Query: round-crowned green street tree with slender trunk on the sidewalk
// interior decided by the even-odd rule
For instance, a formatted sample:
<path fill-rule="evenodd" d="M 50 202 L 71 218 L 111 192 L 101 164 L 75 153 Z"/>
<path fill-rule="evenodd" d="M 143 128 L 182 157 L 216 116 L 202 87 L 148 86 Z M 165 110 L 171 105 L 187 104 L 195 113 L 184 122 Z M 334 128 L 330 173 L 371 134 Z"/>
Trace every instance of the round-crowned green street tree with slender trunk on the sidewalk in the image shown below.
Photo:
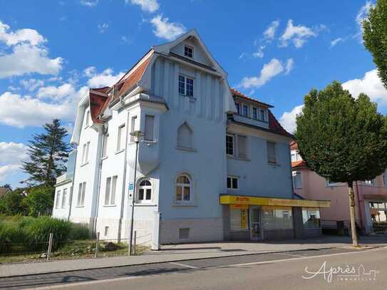
<path fill-rule="evenodd" d="M 311 90 L 296 118 L 296 142 L 308 167 L 349 189 L 351 233 L 358 245 L 354 211 L 356 180 L 371 180 L 387 167 L 387 120 L 361 93 L 354 99 L 341 83 Z"/>

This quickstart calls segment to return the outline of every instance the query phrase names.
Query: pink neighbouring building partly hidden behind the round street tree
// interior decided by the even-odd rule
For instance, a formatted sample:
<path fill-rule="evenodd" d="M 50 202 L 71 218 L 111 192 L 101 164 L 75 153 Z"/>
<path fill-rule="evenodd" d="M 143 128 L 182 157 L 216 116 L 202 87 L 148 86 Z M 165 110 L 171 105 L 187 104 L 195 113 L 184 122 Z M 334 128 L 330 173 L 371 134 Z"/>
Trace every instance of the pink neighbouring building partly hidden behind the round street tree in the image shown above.
<path fill-rule="evenodd" d="M 291 142 L 291 166 L 296 195 L 306 199 L 330 200 L 331 207 L 321 209 L 322 225 L 326 229 L 350 227 L 348 185 L 329 182 L 309 170 Z M 374 180 L 354 182 L 356 224 L 364 234 L 373 230 L 373 224 L 386 224 L 387 172 Z"/>

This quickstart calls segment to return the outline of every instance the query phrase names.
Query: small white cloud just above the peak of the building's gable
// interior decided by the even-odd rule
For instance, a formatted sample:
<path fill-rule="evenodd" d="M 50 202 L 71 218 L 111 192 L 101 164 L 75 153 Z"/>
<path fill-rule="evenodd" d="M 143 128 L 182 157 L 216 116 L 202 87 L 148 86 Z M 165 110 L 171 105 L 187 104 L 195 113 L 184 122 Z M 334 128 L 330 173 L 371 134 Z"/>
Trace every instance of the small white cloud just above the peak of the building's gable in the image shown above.
<path fill-rule="evenodd" d="M 182 24 L 169 22 L 169 19 L 167 17 L 162 18 L 161 14 L 153 17 L 150 23 L 153 24 L 153 33 L 155 33 L 155 36 L 167 39 L 168 41 L 172 41 L 177 36 L 180 36 L 180 34 L 185 33 L 185 27 Z"/>

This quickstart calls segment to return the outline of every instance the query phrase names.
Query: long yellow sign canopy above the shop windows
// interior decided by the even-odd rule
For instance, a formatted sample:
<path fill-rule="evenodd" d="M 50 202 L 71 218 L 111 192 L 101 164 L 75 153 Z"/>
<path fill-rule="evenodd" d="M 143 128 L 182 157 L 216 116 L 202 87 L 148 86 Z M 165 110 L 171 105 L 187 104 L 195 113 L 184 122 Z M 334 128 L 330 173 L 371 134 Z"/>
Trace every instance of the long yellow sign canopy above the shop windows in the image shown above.
<path fill-rule="evenodd" d="M 277 207 L 331 207 L 329 200 L 288 200 L 272 197 L 220 195 L 220 204 L 271 205 Z"/>

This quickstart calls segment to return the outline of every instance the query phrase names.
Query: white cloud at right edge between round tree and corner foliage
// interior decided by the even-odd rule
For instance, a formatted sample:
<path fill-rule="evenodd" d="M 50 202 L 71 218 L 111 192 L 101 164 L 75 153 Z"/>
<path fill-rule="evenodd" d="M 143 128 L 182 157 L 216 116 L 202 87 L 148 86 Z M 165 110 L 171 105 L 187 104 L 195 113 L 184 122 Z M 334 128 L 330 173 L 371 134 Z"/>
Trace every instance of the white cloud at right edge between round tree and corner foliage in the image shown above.
<path fill-rule="evenodd" d="M 363 78 L 346 81 L 343 83 L 343 88 L 349 90 L 354 98 L 357 98 L 360 93 L 365 93 L 373 102 L 387 105 L 387 90 L 381 83 L 376 69 L 367 71 Z"/>

